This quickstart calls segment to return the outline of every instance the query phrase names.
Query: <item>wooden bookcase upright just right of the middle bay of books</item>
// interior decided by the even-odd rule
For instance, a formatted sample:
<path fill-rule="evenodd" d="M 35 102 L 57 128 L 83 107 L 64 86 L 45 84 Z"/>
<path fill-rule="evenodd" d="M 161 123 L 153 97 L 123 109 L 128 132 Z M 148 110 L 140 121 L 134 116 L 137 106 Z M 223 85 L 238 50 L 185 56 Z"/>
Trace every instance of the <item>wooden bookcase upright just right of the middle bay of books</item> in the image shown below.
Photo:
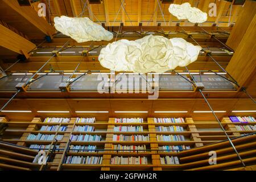
<path fill-rule="evenodd" d="M 148 122 L 148 131 L 149 132 L 155 132 L 155 124 L 154 124 L 154 118 L 147 118 Z M 156 138 L 156 133 L 151 133 L 150 135 L 150 149 L 151 150 L 158 150 L 158 140 Z M 161 163 L 160 163 L 160 155 L 156 151 L 152 151 L 152 164 L 154 165 L 153 170 L 154 171 L 162 171 Z"/>

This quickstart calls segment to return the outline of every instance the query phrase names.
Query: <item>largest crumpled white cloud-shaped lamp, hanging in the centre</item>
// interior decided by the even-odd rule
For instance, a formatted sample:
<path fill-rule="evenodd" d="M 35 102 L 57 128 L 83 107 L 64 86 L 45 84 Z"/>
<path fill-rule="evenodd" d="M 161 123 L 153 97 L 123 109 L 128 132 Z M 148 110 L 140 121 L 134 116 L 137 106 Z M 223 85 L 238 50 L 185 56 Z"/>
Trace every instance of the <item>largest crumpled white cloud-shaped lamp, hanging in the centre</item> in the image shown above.
<path fill-rule="evenodd" d="M 200 46 L 181 38 L 148 35 L 138 40 L 118 40 L 101 49 L 100 64 L 113 71 L 163 73 L 197 60 Z"/>

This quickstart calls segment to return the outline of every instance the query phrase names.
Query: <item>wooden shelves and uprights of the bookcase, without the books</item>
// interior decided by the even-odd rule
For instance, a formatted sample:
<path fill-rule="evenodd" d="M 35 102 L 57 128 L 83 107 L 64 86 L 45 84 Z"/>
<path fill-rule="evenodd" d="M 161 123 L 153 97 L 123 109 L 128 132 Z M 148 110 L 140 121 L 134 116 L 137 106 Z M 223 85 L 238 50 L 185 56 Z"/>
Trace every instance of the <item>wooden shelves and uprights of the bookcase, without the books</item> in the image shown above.
<path fill-rule="evenodd" d="M 184 166 L 182 163 L 185 158 L 182 156 L 186 151 L 159 151 L 160 146 L 189 146 L 192 149 L 188 151 L 196 150 L 207 144 L 214 142 L 220 142 L 226 139 L 223 131 L 220 131 L 220 126 L 216 121 L 199 121 L 193 120 L 193 118 L 184 118 L 184 123 L 155 123 L 154 118 L 144 119 L 143 123 L 115 123 L 115 118 L 109 118 L 108 121 L 96 121 L 94 123 L 76 123 L 76 118 L 71 118 L 68 123 L 44 123 L 42 118 L 34 118 L 31 121 L 9 121 L 5 117 L 0 118 L 0 123 L 5 122 L 9 127 L 5 131 L 5 135 L 2 140 L 18 144 L 20 146 L 29 147 L 30 144 L 47 144 L 53 146 L 55 143 L 59 146 L 58 150 L 52 155 L 52 159 L 47 166 L 41 165 L 40 169 L 47 170 L 176 170 L 181 169 Z M 255 125 L 254 122 L 249 123 L 233 123 L 229 118 L 222 118 L 222 126 L 224 126 L 226 133 L 230 138 L 239 137 L 242 134 L 248 134 L 255 132 L 251 131 L 238 131 L 236 125 Z M 65 131 L 39 131 L 43 125 L 48 126 L 67 126 Z M 95 131 L 81 132 L 74 131 L 75 126 L 94 126 Z M 143 126 L 143 131 L 131 132 L 131 131 L 114 131 L 115 126 Z M 182 126 L 184 131 L 157 131 L 158 126 Z M 63 135 L 63 139 L 60 141 L 55 140 L 27 140 L 30 134 L 52 134 Z M 101 141 L 69 141 L 71 135 L 101 135 Z M 148 135 L 149 141 L 114 141 L 113 135 Z M 158 135 L 183 135 L 184 141 L 159 141 Z M 122 145 L 142 145 L 146 146 L 145 152 L 131 151 L 114 151 L 114 144 Z M 95 152 L 76 152 L 69 151 L 71 145 L 92 145 L 97 146 Z M 231 149 L 229 149 L 231 150 Z M 50 154 L 50 150 L 46 150 L 47 155 Z M 203 154 L 202 154 L 203 155 Z M 101 164 L 65 164 L 66 156 L 102 156 Z M 110 160 L 113 156 L 146 156 L 148 164 L 111 164 Z M 180 164 L 161 164 L 160 158 L 164 156 L 177 156 L 180 158 Z M 35 164 L 35 166 L 38 164 Z"/>

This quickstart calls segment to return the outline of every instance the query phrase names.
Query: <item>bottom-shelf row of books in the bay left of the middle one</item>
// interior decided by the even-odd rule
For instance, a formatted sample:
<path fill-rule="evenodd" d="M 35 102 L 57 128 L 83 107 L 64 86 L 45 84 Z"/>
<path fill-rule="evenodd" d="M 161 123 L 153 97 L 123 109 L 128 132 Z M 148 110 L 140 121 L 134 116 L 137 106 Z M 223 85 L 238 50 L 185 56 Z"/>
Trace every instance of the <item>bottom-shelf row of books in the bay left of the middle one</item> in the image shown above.
<path fill-rule="evenodd" d="M 67 156 L 65 164 L 101 164 L 102 156 Z"/>

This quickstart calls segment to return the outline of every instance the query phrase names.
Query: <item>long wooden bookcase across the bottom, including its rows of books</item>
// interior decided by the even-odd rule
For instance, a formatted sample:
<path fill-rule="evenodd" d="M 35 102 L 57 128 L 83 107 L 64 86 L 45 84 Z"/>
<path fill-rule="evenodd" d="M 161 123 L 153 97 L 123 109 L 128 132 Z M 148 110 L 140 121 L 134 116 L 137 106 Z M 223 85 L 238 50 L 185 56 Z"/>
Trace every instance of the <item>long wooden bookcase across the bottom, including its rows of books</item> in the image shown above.
<path fill-rule="evenodd" d="M 47 155 L 50 154 L 49 148 L 56 144 L 57 148 L 51 155 L 51 160 L 47 165 L 40 166 L 40 169 L 47 170 L 179 169 L 183 162 L 179 161 L 183 154 L 181 151 L 226 139 L 216 121 L 194 120 L 193 118 L 184 118 L 183 122 L 174 123 L 155 122 L 155 118 L 146 118 L 143 119 L 143 122 L 125 123 L 115 122 L 115 118 L 89 123 L 77 122 L 77 118 L 70 118 L 68 122 L 43 121 L 44 119 L 39 117 L 33 118 L 31 121 L 9 121 L 6 117 L 0 118 L 0 123 L 7 123 L 9 126 L 2 138 L 4 142 L 34 148 L 37 151 L 43 149 Z M 255 132 L 255 123 L 232 122 L 229 117 L 221 120 L 221 124 L 230 138 Z M 241 126 L 250 127 L 251 130 L 241 129 Z M 89 131 L 85 129 L 89 129 Z M 28 140 L 28 136 L 38 134 L 52 135 L 53 137 L 49 140 Z M 54 138 L 57 135 L 62 137 L 56 141 Z M 82 140 L 71 140 L 72 135 L 90 135 L 91 137 L 97 135 L 101 136 L 101 139 L 93 141 L 84 137 Z M 114 140 L 114 135 L 130 136 L 130 140 Z M 135 141 L 131 139 L 133 135 L 143 135 L 148 137 L 148 140 Z M 163 141 L 159 140 L 160 135 L 182 135 L 184 139 Z M 122 150 L 117 150 L 118 148 L 122 148 Z M 69 156 L 72 156 L 74 160 L 76 158 L 78 162 L 67 162 Z M 91 162 L 92 160 L 89 158 L 98 160 Z M 114 158 L 123 158 L 122 164 L 121 162 L 112 162 Z M 147 163 L 138 165 L 138 161 L 143 158 L 147 158 Z M 89 162 L 88 164 L 82 163 L 82 160 Z M 129 164 L 126 164 L 127 161 Z M 130 163 L 130 161 L 133 162 Z"/>

